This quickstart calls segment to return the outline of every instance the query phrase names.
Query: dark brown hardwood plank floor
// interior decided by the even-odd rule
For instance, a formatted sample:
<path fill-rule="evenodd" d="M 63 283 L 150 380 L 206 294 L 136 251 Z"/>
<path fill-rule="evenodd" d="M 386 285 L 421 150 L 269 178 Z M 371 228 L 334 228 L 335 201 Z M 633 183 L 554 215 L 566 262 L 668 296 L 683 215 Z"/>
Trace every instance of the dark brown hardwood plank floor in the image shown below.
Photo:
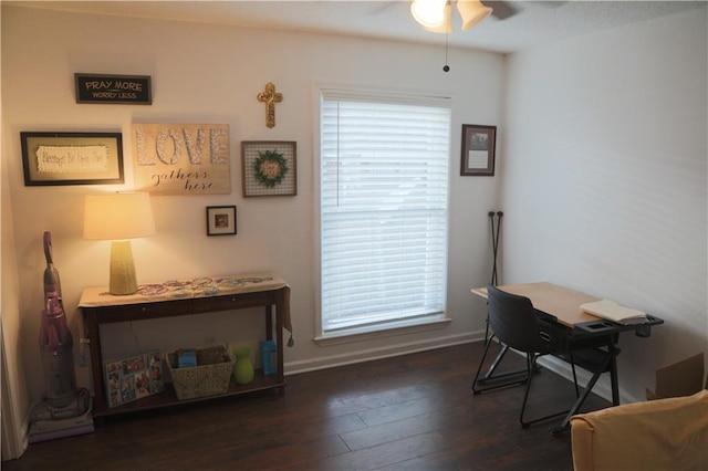
<path fill-rule="evenodd" d="M 13 470 L 572 470 L 570 432 L 521 429 L 523 387 L 471 394 L 482 344 L 289 376 L 260 393 L 106 419 L 30 444 Z M 508 355 L 507 366 L 521 366 Z M 531 416 L 570 406 L 572 383 L 535 375 Z M 586 410 L 610 404 L 591 396 Z"/>

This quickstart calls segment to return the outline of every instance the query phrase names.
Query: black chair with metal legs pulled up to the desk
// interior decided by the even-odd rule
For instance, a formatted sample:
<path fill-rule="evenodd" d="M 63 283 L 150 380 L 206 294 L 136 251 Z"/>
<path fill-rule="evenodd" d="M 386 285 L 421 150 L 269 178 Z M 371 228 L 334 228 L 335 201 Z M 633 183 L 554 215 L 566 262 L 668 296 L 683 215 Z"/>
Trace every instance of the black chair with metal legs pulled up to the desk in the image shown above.
<path fill-rule="evenodd" d="M 521 414 L 519 416 L 521 427 L 528 428 L 532 423 L 568 414 L 570 409 L 534 418 L 532 420 L 525 420 L 524 418 L 533 373 L 538 368 L 537 360 L 541 356 L 554 355 L 571 364 L 573 369 L 573 381 L 575 384 L 575 397 L 577 398 L 580 396 L 577 377 L 575 375 L 575 363 L 573 362 L 573 352 L 569 349 L 568 345 L 569 331 L 558 324 L 544 322 L 539 318 L 531 300 L 528 297 L 507 293 L 492 285 L 487 286 L 487 295 L 489 303 L 489 324 L 493 335 L 497 336 L 503 345 L 524 353 L 527 357 L 524 376 L 516 383 L 507 383 L 504 385 L 509 386 L 511 384 L 520 383 L 527 384 L 525 393 L 523 395 L 523 404 L 521 405 Z M 483 367 L 491 343 L 492 342 L 488 342 L 485 347 L 485 353 L 479 364 L 475 383 L 477 383 L 477 379 L 479 378 L 480 370 Z"/>

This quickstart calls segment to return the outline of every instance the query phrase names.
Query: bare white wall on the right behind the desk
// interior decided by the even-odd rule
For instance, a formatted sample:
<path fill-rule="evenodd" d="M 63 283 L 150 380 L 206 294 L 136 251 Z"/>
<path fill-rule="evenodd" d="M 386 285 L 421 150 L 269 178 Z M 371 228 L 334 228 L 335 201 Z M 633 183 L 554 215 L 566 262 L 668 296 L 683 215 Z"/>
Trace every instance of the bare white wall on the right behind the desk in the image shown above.
<path fill-rule="evenodd" d="M 504 281 L 664 318 L 621 337 L 629 400 L 657 367 L 708 352 L 706 19 L 704 6 L 508 63 Z"/>

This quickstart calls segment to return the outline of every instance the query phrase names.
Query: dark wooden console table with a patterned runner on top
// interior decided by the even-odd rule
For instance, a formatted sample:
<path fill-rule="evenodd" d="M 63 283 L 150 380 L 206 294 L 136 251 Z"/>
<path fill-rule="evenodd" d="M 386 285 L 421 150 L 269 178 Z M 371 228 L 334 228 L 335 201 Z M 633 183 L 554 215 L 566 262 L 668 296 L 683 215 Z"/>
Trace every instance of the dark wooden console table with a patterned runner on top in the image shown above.
<path fill-rule="evenodd" d="M 266 339 L 271 341 L 274 338 L 278 345 L 277 374 L 263 375 L 262 370 L 257 370 L 253 381 L 248 385 L 237 385 L 233 377 L 231 377 L 229 389 L 225 395 L 187 400 L 178 400 L 171 384 L 166 384 L 164 393 L 108 408 L 103 374 L 104 358 L 101 352 L 101 324 L 260 306 L 264 307 Z M 173 280 L 164 283 L 140 285 L 138 293 L 125 296 L 111 295 L 107 293 L 106 287 L 88 287 L 84 290 L 79 302 L 79 307 L 83 314 L 84 335 L 88 341 L 91 352 L 91 374 L 94 390 L 93 415 L 95 418 L 208 400 L 215 397 L 232 396 L 263 389 L 278 389 L 280 395 L 284 393 L 283 328 L 292 332 L 290 320 L 290 287 L 275 274 L 259 273 L 199 278 L 189 281 Z M 275 318 L 274 328 L 273 307 Z"/>

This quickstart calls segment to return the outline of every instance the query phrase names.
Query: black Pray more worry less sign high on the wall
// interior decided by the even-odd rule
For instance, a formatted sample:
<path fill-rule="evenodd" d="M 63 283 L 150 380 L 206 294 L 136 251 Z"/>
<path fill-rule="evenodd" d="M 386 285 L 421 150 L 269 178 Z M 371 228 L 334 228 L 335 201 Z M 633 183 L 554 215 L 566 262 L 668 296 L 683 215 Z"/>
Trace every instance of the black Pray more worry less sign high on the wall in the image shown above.
<path fill-rule="evenodd" d="M 149 75 L 74 74 L 76 103 L 152 105 Z"/>

